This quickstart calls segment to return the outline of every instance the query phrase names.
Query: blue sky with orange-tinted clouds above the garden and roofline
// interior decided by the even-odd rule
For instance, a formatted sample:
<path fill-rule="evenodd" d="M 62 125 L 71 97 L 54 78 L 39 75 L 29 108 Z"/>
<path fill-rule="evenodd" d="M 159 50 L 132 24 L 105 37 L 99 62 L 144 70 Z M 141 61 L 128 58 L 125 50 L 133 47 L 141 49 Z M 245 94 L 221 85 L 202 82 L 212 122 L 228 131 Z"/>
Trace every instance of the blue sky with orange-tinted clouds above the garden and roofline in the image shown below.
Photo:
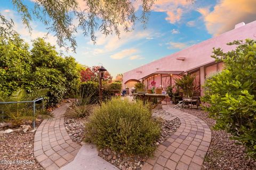
<path fill-rule="evenodd" d="M 33 7 L 34 1 L 24 0 L 29 7 Z M 141 10 L 140 2 L 136 3 L 138 13 Z M 82 7 L 83 3 L 80 4 Z M 75 57 L 77 62 L 86 66 L 102 64 L 115 77 L 118 73 L 130 71 L 234 29 L 237 23 L 250 23 L 256 20 L 255 11 L 256 0 L 197 0 L 193 4 L 186 0 L 157 0 L 146 29 L 136 23 L 132 32 L 121 30 L 120 39 L 115 35 L 106 37 L 97 31 L 96 45 L 78 30 L 76 53 L 66 55 Z M 48 32 L 41 22 L 33 20 L 33 33 L 30 34 L 9 0 L 0 1 L 0 13 L 13 19 L 15 30 L 30 44 L 31 40 L 44 37 Z M 57 44 L 54 32 L 47 37 L 46 41 Z"/>

